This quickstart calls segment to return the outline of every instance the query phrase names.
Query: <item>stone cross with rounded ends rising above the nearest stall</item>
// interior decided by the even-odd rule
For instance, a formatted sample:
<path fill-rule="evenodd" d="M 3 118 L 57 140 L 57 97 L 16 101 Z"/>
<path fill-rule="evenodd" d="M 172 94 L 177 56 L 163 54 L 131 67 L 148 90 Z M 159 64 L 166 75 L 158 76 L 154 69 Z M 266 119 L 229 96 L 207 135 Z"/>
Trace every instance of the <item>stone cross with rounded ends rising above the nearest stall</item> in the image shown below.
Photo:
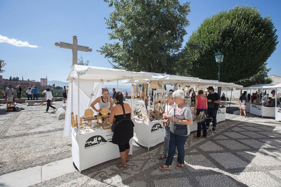
<path fill-rule="evenodd" d="M 78 46 L 77 43 L 78 43 L 77 36 L 73 36 L 72 44 L 68 44 L 68 43 L 64 43 L 64 42 L 55 43 L 55 46 L 60 46 L 62 48 L 66 48 L 66 49 L 72 49 L 72 66 L 74 64 L 77 64 L 77 50 L 85 51 L 85 52 L 92 52 L 91 48 L 85 47 L 85 46 Z"/>

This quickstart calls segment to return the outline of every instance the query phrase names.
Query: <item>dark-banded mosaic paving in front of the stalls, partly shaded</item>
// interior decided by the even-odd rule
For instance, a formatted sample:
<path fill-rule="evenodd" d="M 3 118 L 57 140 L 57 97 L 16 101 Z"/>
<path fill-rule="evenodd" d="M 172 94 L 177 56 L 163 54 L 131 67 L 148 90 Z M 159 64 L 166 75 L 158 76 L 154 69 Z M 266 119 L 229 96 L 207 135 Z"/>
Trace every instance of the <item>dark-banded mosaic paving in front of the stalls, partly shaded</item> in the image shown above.
<path fill-rule="evenodd" d="M 117 168 L 120 159 L 115 159 L 33 186 L 281 186 L 278 126 L 272 119 L 232 117 L 218 123 L 214 137 L 209 132 L 208 139 L 197 140 L 192 132 L 182 170 L 175 169 L 177 155 L 171 170 L 158 169 L 165 163 L 157 159 L 163 148 L 159 144 L 135 151 L 127 168 Z"/>

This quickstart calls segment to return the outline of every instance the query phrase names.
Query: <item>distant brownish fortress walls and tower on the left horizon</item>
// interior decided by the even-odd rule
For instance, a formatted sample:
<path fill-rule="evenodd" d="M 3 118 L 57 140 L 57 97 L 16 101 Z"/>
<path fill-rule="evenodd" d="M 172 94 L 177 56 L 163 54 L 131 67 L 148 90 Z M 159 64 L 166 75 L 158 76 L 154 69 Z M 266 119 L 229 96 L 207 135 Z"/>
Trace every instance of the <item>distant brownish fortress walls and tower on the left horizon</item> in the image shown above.
<path fill-rule="evenodd" d="M 52 88 L 52 86 L 47 85 L 47 77 L 46 79 L 40 79 L 40 82 L 36 82 L 35 80 L 9 80 L 3 79 L 3 76 L 0 75 L 0 86 L 6 87 L 6 84 L 12 84 L 13 88 L 17 85 L 21 85 L 22 88 L 28 88 L 32 86 L 37 86 L 38 89 L 44 90 L 45 88 Z"/>

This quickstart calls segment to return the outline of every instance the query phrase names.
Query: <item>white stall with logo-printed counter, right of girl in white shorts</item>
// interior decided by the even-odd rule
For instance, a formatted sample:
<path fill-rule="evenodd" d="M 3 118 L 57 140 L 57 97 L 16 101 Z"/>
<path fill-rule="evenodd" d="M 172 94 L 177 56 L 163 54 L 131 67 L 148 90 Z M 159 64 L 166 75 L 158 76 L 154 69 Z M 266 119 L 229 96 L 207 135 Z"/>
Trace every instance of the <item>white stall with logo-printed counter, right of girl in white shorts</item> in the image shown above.
<path fill-rule="evenodd" d="M 259 90 L 262 90 L 262 100 L 261 101 L 258 100 L 258 103 L 251 103 L 251 101 L 248 101 L 247 112 L 261 117 L 275 117 L 275 107 L 267 106 L 263 104 L 263 98 L 264 98 L 263 90 L 272 88 L 272 86 L 274 86 L 274 84 L 256 84 L 244 88 L 239 88 L 240 90 L 247 90 L 247 94 L 248 94 L 248 90 L 250 90 L 250 93 L 251 90 L 258 90 L 258 94 L 260 92 Z"/>

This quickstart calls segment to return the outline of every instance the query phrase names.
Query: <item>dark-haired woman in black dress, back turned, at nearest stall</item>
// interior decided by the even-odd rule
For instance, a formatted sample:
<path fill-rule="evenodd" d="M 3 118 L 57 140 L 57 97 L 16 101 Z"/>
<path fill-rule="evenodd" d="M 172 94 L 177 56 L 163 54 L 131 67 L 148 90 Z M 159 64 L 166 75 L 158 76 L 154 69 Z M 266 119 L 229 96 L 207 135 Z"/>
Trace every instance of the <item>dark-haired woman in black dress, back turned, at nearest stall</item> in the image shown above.
<path fill-rule="evenodd" d="M 133 137 L 133 125 L 131 121 L 128 120 L 131 118 L 131 107 L 129 104 L 123 103 L 123 95 L 121 92 L 115 94 L 114 102 L 116 105 L 111 109 L 109 122 L 112 123 L 114 118 L 115 124 L 118 122 L 113 133 L 112 143 L 119 146 L 122 160 L 122 162 L 117 163 L 116 166 L 127 167 L 126 161 L 128 161 L 128 154 L 130 151 L 129 141 Z M 126 120 L 123 120 L 124 116 L 126 116 Z"/>

